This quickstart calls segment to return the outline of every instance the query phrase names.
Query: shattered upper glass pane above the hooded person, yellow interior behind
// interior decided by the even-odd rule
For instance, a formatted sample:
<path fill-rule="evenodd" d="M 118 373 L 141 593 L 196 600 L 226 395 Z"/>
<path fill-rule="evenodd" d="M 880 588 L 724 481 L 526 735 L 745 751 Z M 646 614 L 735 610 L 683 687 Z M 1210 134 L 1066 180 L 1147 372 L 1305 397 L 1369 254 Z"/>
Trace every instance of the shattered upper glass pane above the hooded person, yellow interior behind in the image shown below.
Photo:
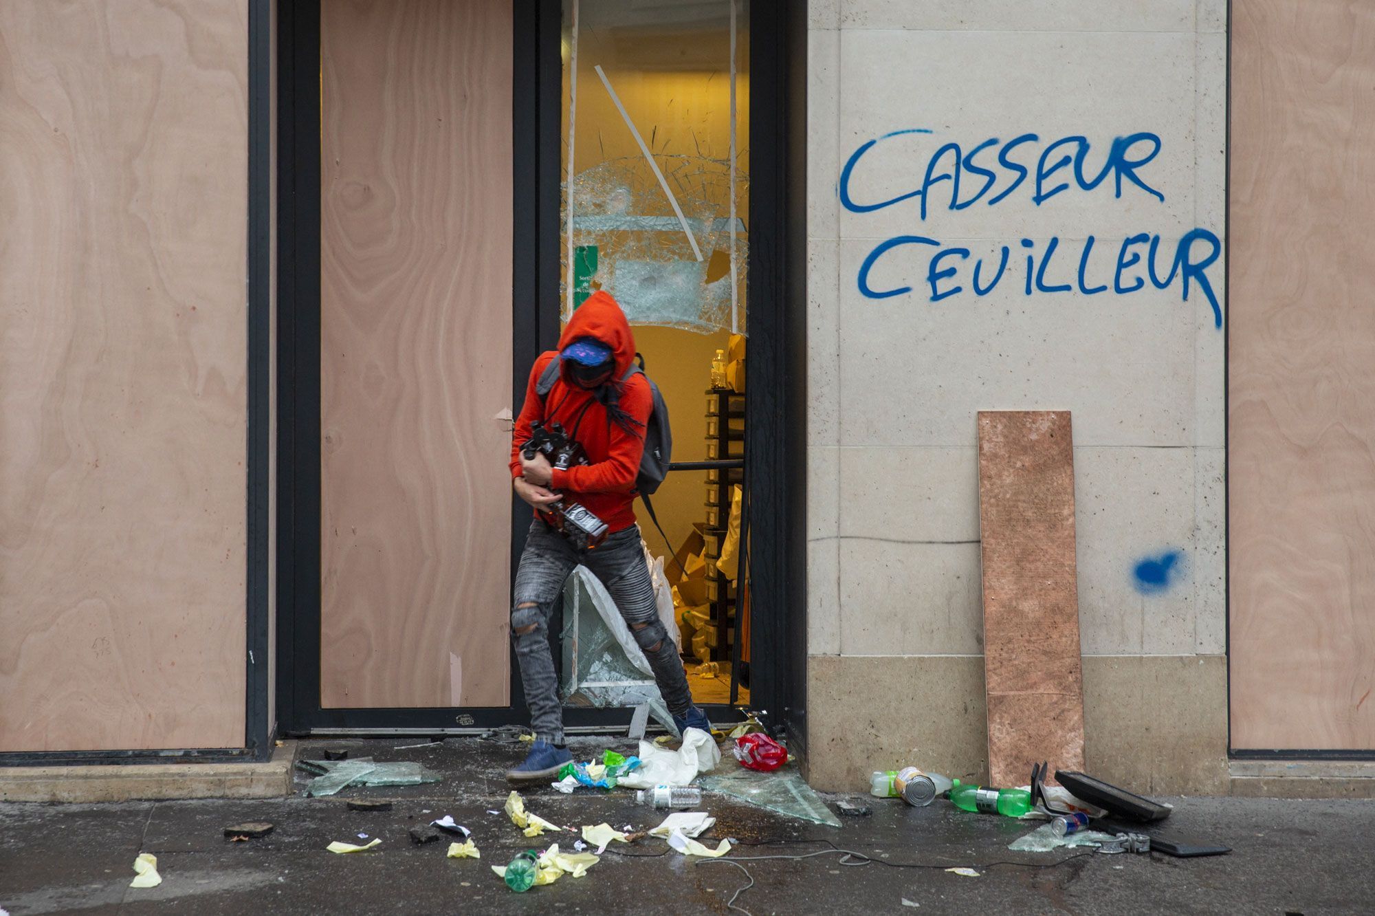
<path fill-rule="evenodd" d="M 745 331 L 748 0 L 565 0 L 564 319 Z"/>

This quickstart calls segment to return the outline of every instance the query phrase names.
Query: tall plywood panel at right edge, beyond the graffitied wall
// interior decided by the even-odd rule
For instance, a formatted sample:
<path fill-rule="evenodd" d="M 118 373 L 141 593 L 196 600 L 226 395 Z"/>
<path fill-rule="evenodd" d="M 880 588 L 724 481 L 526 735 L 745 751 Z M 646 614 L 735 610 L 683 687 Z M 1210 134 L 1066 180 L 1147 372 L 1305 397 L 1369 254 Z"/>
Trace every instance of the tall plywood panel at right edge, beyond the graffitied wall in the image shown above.
<path fill-rule="evenodd" d="M 1375 4 L 1232 8 L 1232 745 L 1375 748 Z"/>

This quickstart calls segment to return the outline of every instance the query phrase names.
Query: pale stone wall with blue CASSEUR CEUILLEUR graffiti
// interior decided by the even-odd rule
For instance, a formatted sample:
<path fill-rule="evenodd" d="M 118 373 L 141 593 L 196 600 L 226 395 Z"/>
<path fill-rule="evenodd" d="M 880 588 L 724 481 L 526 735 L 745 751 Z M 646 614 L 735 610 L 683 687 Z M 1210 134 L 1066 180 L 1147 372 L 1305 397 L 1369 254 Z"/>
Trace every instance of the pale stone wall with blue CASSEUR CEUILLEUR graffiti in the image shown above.
<path fill-rule="evenodd" d="M 1226 791 L 1225 118 L 1225 0 L 811 1 L 818 788 L 986 776 L 975 414 L 1038 408 L 1074 422 L 1088 769 Z"/>

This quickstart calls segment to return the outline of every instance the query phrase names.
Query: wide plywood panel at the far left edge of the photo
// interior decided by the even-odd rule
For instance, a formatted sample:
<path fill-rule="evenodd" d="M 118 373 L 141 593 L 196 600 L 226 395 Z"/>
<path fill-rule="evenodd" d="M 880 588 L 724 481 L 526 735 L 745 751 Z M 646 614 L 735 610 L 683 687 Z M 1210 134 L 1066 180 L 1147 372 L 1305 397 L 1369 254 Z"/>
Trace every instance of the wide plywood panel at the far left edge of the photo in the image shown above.
<path fill-rule="evenodd" d="M 0 3 L 0 750 L 242 747 L 248 0 Z"/>

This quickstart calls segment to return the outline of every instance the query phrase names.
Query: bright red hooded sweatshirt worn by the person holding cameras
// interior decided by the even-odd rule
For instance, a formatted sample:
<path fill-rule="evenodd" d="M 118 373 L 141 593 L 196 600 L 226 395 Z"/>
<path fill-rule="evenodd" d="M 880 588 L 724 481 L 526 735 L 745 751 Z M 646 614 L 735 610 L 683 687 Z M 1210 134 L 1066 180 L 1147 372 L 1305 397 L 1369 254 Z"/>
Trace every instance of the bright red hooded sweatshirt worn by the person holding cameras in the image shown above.
<path fill-rule="evenodd" d="M 542 400 L 535 386 L 556 355 L 549 351 L 535 360 L 525 385 L 525 404 L 516 418 L 512 435 L 510 468 L 513 479 L 521 476 L 520 450 L 529 440 L 531 424 L 536 419 L 561 422 L 568 435 L 582 443 L 591 464 L 566 472 L 556 469 L 551 488 L 572 502 L 580 502 L 615 532 L 635 524 L 635 477 L 639 475 L 639 457 L 645 451 L 645 424 L 653 410 L 653 396 L 649 382 L 639 373 L 620 381 L 635 358 L 635 337 L 630 333 L 626 314 L 609 293 L 598 290 L 578 307 L 558 338 L 558 349 L 588 337 L 610 347 L 616 369 L 612 381 L 606 384 L 620 385 L 619 407 L 639 425 L 631 433 L 612 422 L 593 392 L 569 380 L 566 363 L 558 381 Z M 591 406 L 587 406 L 588 402 Z M 586 414 L 583 407 L 587 407 Z M 583 414 L 582 419 L 579 414 Z"/>

